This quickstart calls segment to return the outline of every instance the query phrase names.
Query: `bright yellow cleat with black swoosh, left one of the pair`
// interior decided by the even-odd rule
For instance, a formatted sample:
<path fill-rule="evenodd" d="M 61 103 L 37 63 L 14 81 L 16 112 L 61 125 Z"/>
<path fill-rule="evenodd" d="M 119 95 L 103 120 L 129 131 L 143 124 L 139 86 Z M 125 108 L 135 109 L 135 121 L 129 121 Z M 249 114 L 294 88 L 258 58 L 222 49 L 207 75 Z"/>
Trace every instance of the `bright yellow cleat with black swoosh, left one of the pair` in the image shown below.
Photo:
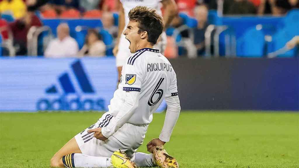
<path fill-rule="evenodd" d="M 130 161 L 126 153 L 120 150 L 113 153 L 111 163 L 115 168 L 137 168 L 136 164 Z"/>

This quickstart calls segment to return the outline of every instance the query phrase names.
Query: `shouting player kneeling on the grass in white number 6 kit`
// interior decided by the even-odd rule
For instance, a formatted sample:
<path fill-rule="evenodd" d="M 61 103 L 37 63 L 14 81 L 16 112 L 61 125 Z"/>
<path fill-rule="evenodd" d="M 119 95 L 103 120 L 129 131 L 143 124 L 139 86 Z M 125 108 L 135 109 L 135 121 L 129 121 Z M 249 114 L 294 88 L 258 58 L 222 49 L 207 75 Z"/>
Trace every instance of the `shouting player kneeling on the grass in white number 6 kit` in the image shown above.
<path fill-rule="evenodd" d="M 181 110 L 176 73 L 153 48 L 162 33 L 163 19 L 155 10 L 137 6 L 130 10 L 129 20 L 123 34 L 134 54 L 123 66 L 109 111 L 66 143 L 51 159 L 51 167 L 179 167 L 163 148 Z M 159 138 L 147 144 L 153 154 L 136 152 L 163 98 L 167 102 L 163 129 Z"/>

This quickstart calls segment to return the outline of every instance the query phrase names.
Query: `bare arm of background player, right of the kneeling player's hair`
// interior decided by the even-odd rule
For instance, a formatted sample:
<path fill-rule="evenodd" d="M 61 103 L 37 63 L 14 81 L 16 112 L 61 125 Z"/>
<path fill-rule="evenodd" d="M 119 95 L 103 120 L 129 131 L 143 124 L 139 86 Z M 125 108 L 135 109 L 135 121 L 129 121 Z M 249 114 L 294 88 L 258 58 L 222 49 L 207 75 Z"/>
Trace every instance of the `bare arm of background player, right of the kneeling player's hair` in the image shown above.
<path fill-rule="evenodd" d="M 163 4 L 164 14 L 164 30 L 166 30 L 172 19 L 178 14 L 178 7 L 174 0 L 162 0 L 161 3 Z"/>

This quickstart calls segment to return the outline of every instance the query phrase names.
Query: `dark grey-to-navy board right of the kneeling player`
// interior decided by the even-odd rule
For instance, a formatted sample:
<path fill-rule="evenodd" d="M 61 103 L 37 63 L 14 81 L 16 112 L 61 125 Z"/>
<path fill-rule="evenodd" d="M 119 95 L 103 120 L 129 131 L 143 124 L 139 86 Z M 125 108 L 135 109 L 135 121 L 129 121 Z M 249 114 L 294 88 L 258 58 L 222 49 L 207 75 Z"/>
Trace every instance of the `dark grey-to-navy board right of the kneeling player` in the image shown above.
<path fill-rule="evenodd" d="M 299 110 L 298 58 L 170 60 L 182 109 Z"/>

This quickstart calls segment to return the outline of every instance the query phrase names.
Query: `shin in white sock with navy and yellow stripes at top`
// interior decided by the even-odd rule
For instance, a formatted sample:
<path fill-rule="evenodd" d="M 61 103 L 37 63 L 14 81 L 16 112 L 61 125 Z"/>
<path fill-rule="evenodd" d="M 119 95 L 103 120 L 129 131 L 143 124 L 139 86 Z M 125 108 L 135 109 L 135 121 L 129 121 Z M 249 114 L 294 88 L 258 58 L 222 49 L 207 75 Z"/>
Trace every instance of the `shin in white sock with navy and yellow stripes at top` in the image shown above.
<path fill-rule="evenodd" d="M 109 168 L 112 167 L 111 158 L 84 155 L 82 153 L 71 153 L 62 157 L 65 167 L 74 168 Z"/>

